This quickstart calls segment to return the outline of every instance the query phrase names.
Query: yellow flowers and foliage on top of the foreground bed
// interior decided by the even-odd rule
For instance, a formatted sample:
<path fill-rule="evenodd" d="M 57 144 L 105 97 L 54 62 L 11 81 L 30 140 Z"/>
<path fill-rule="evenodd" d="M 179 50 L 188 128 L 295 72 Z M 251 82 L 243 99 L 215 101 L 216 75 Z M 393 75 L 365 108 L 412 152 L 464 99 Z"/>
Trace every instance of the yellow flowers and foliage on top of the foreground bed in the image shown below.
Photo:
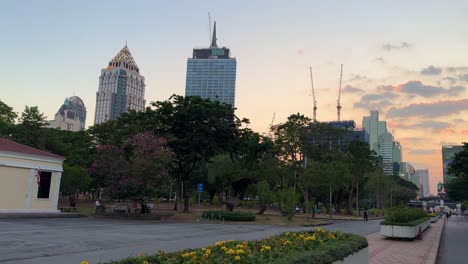
<path fill-rule="evenodd" d="M 298 233 L 283 233 L 258 241 L 217 241 L 214 246 L 182 250 L 175 253 L 160 252 L 154 256 L 140 256 L 109 264 L 228 264 L 271 263 L 290 255 L 311 252 L 323 244 L 346 243 L 350 235 L 321 228 Z M 355 236 L 357 237 L 357 236 Z M 356 238 L 354 238 L 356 239 Z M 358 240 L 361 237 L 358 237 Z M 367 246 L 367 241 L 362 238 Z"/>

